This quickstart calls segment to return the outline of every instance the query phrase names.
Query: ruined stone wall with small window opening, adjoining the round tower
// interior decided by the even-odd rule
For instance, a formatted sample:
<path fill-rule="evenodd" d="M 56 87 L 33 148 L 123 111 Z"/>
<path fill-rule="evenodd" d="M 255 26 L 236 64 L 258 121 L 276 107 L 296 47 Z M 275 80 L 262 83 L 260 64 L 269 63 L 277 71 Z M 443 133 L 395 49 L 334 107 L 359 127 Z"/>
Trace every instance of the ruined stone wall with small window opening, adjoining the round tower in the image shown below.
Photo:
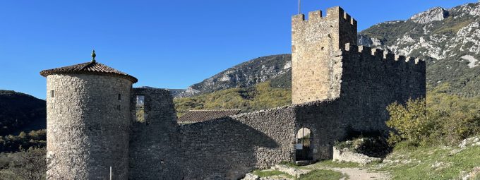
<path fill-rule="evenodd" d="M 145 96 L 145 122 L 136 121 L 137 95 Z M 169 90 L 134 88 L 131 102 L 128 179 L 181 179 L 180 134 Z"/>

